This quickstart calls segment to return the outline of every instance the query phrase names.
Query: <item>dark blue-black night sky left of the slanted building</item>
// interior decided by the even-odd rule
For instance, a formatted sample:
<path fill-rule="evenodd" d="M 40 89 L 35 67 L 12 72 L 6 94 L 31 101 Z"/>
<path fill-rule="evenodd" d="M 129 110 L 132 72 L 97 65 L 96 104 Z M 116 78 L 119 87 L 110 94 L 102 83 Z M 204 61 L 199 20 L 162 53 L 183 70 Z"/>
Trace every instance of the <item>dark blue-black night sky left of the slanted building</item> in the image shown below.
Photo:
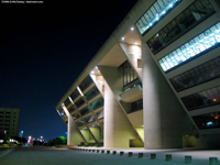
<path fill-rule="evenodd" d="M 0 4 L 0 107 L 21 109 L 25 138 L 65 135 L 56 103 L 136 1 Z"/>

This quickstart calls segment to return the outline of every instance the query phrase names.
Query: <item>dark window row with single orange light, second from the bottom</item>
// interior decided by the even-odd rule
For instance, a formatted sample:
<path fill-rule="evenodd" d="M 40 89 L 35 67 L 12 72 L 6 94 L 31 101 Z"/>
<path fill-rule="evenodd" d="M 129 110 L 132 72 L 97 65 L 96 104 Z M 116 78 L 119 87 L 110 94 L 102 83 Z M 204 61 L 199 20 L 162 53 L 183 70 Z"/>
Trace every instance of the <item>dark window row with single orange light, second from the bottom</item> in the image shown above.
<path fill-rule="evenodd" d="M 182 101 L 189 111 L 204 107 L 219 105 L 220 86 L 184 97 L 182 98 Z"/>

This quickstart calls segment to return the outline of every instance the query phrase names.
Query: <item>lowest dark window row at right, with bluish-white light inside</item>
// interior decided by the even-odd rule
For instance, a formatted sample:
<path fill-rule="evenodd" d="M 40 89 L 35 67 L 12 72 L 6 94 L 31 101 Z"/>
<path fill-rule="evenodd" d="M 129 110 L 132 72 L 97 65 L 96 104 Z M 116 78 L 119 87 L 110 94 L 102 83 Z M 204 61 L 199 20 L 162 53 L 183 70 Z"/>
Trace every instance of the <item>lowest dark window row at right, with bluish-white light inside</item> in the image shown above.
<path fill-rule="evenodd" d="M 200 130 L 220 128 L 220 112 L 196 116 L 193 119 Z"/>

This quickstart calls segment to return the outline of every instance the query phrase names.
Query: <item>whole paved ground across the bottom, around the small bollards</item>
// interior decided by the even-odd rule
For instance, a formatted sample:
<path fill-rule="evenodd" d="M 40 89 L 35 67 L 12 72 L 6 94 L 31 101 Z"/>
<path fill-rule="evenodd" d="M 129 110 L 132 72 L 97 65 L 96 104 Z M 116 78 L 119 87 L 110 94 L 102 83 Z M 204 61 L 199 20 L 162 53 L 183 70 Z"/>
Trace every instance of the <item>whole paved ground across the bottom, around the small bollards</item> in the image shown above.
<path fill-rule="evenodd" d="M 97 150 L 91 147 L 92 150 Z M 100 148 L 99 150 L 109 150 Z M 55 147 L 19 147 L 0 158 L 0 165 L 186 165 L 185 155 L 193 155 L 191 165 L 209 165 L 209 157 L 220 160 L 220 151 L 183 151 L 183 150 L 158 150 L 144 151 L 142 148 L 112 148 L 110 154 L 86 152 L 79 150 L 66 150 Z M 117 151 L 117 155 L 112 152 Z M 119 152 L 124 151 L 120 156 Z M 128 157 L 128 152 L 133 152 Z M 143 152 L 144 157 L 138 158 L 138 153 Z M 150 160 L 150 154 L 156 153 L 156 160 Z M 165 161 L 165 154 L 172 154 L 170 162 Z"/>

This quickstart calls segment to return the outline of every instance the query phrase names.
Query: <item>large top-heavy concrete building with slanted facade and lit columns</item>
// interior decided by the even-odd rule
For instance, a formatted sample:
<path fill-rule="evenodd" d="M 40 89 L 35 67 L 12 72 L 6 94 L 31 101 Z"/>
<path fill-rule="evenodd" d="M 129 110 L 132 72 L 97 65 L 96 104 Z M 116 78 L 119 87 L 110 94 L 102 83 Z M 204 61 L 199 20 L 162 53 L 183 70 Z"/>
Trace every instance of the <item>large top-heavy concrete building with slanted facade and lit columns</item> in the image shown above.
<path fill-rule="evenodd" d="M 219 0 L 140 0 L 56 106 L 68 144 L 220 147 Z"/>

